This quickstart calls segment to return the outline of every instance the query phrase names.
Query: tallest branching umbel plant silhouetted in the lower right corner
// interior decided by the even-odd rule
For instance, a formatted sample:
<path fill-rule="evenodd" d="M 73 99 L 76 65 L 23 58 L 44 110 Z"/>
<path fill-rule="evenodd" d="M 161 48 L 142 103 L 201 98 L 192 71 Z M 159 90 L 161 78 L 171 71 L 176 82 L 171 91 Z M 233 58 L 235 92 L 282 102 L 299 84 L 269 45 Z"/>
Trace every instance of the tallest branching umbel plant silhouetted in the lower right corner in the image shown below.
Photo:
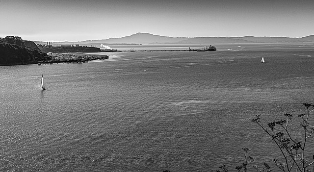
<path fill-rule="evenodd" d="M 292 138 L 288 131 L 288 122 L 292 120 L 291 114 L 284 114 L 286 120 L 268 123 L 267 125 L 270 130 L 262 124 L 260 115 L 257 115 L 256 118 L 252 120 L 252 122 L 257 123 L 272 138 L 280 149 L 285 162 L 280 163 L 278 162 L 278 159 L 274 159 L 273 162 L 283 172 L 291 172 L 293 167 L 296 168 L 294 169 L 296 172 L 310 172 L 308 168 L 314 163 L 314 161 L 309 163 L 309 161 L 305 159 L 307 139 L 314 133 L 314 126 L 310 125 L 308 122 L 311 112 L 314 111 L 314 105 L 311 103 L 303 103 L 303 105 L 307 108 L 307 113 L 298 115 L 298 117 L 302 119 L 300 122 L 300 126 L 303 129 L 302 135 L 304 136 L 302 141 Z M 275 132 L 277 129 L 276 126 L 282 128 L 284 132 Z M 267 164 L 264 164 L 264 166 L 265 168 L 263 168 L 263 172 L 268 172 L 270 167 L 268 168 Z M 257 166 L 255 168 L 257 169 L 257 172 L 260 172 L 258 171 Z"/>

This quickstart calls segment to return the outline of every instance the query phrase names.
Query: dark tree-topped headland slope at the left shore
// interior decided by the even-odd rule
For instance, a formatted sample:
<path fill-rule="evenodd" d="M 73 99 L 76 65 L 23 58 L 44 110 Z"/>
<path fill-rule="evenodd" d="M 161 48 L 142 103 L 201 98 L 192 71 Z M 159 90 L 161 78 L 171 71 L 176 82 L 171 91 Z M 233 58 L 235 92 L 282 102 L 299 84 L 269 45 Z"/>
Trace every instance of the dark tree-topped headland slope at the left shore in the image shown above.
<path fill-rule="evenodd" d="M 35 43 L 26 43 L 32 45 Z M 8 44 L 0 39 L 0 66 L 35 64 L 38 61 L 51 60 L 46 53 L 14 44 Z"/>

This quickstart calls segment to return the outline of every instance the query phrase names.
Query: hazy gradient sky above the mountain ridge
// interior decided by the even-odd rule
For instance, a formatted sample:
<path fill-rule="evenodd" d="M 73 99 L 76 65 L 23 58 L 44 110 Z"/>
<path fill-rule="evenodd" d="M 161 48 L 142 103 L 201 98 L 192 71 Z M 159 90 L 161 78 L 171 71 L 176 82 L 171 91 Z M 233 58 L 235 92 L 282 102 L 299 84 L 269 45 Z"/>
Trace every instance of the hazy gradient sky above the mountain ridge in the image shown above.
<path fill-rule="evenodd" d="M 314 35 L 314 0 L 0 0 L 0 37 L 84 41 Z"/>

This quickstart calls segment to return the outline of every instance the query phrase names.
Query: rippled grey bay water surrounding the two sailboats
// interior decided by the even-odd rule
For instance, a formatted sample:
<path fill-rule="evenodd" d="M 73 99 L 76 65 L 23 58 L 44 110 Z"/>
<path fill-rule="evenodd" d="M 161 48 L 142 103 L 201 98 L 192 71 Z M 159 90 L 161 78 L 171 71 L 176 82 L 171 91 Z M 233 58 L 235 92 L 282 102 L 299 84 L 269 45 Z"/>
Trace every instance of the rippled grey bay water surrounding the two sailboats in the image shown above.
<path fill-rule="evenodd" d="M 242 147 L 256 164 L 272 165 L 279 152 L 251 119 L 305 113 L 302 103 L 314 102 L 314 47 L 216 47 L 1 66 L 0 170 L 206 172 L 242 164 Z"/>

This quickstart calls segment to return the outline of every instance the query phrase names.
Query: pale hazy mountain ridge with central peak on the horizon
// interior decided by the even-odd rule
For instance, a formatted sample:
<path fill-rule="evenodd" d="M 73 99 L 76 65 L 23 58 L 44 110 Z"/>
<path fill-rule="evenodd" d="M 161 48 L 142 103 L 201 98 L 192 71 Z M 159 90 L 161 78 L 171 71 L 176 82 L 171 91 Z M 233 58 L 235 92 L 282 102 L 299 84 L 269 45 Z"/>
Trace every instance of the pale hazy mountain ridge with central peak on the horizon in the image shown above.
<path fill-rule="evenodd" d="M 46 44 L 45 42 L 34 41 L 36 44 Z M 109 38 L 101 40 L 87 40 L 78 42 L 58 42 L 55 45 L 69 44 L 235 44 L 235 43 L 313 43 L 314 35 L 289 38 L 289 37 L 168 37 L 153 35 L 150 33 L 136 33 L 121 38 Z"/>

